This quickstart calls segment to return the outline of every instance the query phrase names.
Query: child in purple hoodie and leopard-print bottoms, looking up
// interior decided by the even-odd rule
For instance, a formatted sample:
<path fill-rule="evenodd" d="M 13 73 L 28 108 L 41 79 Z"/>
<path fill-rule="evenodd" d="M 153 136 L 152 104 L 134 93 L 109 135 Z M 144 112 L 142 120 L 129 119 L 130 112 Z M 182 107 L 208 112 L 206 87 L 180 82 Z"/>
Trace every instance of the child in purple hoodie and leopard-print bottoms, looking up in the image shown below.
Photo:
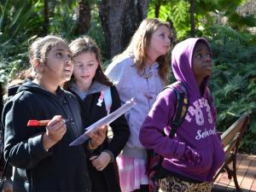
<path fill-rule="evenodd" d="M 212 177 L 224 163 L 224 150 L 217 135 L 216 109 L 207 100 L 212 74 L 212 53 L 204 38 L 188 38 L 172 50 L 172 71 L 188 90 L 189 108 L 183 124 L 171 139 L 176 95 L 172 89 L 160 92 L 140 131 L 140 141 L 165 159 L 162 191 L 208 191 Z"/>

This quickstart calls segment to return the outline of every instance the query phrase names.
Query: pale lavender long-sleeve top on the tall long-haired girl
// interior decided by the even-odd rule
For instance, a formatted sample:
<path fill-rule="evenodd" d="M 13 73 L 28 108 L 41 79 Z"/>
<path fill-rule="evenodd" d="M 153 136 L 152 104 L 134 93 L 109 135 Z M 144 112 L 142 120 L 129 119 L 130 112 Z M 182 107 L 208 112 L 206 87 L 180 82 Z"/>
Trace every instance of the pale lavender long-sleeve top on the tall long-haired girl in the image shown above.
<path fill-rule="evenodd" d="M 137 73 L 131 56 L 113 61 L 107 68 L 106 74 L 116 84 L 120 100 L 125 103 L 134 97 L 137 105 L 125 113 L 130 126 L 131 135 L 123 149 L 123 154 L 131 157 L 144 158 L 145 150 L 139 141 L 139 132 L 143 121 L 148 115 L 156 96 L 164 87 L 164 82 L 158 73 L 158 62 L 146 67 L 143 73 Z"/>

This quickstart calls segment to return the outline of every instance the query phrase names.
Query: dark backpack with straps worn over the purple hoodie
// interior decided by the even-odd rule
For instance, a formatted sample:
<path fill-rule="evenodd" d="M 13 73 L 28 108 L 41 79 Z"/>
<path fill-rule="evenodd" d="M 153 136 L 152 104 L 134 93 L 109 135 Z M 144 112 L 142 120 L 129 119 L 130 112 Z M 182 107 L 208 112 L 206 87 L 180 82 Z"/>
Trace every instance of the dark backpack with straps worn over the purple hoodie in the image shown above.
<path fill-rule="evenodd" d="M 164 88 L 166 89 L 172 89 L 176 95 L 176 108 L 175 113 L 173 115 L 173 118 L 170 120 L 168 125 L 171 125 L 172 129 L 170 132 L 169 137 L 172 139 L 172 137 L 175 136 L 175 133 L 177 131 L 177 128 L 183 124 L 183 120 L 186 117 L 186 114 L 188 112 L 189 108 L 189 93 L 188 90 L 181 81 L 177 81 L 173 84 L 170 84 Z M 209 88 L 207 87 L 207 101 L 210 106 L 212 106 L 213 97 L 211 95 L 211 92 Z M 165 175 L 162 174 L 163 168 L 161 167 L 162 161 L 164 160 L 164 157 L 160 154 L 157 154 L 154 152 L 153 149 L 147 149 L 148 154 L 148 164 L 146 167 L 146 174 L 149 178 L 149 191 L 158 191 L 159 189 L 159 179 L 165 177 Z"/>

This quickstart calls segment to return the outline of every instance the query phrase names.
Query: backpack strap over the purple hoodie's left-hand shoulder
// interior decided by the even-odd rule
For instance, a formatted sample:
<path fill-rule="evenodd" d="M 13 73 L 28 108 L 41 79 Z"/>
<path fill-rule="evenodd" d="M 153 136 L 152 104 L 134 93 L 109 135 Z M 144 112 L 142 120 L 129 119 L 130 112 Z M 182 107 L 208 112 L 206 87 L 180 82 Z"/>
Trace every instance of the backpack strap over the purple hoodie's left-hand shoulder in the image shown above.
<path fill-rule="evenodd" d="M 176 95 L 176 107 L 174 111 L 173 118 L 171 120 L 171 132 L 169 137 L 174 137 L 177 128 L 183 123 L 189 108 L 189 93 L 185 84 L 181 81 L 177 81 L 174 84 L 166 86 L 166 88 L 171 88 Z M 166 89 L 165 88 L 165 89 Z"/>

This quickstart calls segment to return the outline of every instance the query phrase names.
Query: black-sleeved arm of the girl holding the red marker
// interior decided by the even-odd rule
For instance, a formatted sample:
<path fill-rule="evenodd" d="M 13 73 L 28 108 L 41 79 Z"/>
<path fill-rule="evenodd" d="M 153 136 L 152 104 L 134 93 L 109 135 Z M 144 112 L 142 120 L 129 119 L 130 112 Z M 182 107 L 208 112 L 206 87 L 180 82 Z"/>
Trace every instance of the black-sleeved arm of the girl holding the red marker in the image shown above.
<path fill-rule="evenodd" d="M 51 154 L 44 150 L 44 131 L 31 130 L 27 121 L 32 117 L 27 101 L 9 101 L 3 108 L 4 156 L 12 166 L 32 168 Z"/>

